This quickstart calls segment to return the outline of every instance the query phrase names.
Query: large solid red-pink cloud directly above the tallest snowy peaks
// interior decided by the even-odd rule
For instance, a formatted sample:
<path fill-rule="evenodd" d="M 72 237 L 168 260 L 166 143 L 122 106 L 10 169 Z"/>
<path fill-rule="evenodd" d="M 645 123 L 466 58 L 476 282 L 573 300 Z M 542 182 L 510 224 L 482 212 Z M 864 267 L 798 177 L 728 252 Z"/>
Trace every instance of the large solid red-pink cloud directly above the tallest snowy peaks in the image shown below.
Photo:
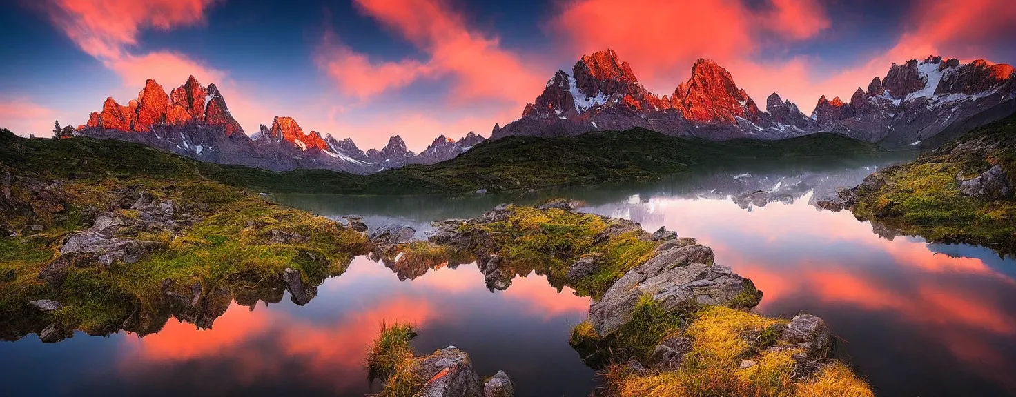
<path fill-rule="evenodd" d="M 830 21 L 813 0 L 773 0 L 761 9 L 724 0 L 582 0 L 566 3 L 551 25 L 576 57 L 612 48 L 632 64 L 643 83 L 664 94 L 698 58 L 723 64 L 761 49 L 762 34 L 806 40 L 829 27 Z"/>

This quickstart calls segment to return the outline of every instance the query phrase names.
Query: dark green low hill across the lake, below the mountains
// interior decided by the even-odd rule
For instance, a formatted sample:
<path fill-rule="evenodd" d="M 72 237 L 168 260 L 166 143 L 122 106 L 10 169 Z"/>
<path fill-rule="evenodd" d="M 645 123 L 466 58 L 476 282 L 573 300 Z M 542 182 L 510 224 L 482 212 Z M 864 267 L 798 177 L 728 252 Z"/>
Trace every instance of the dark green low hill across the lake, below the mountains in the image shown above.
<path fill-rule="evenodd" d="M 710 163 L 879 150 L 873 144 L 832 134 L 779 141 L 712 142 L 634 129 L 567 138 L 502 138 L 480 144 L 448 161 L 406 166 L 367 177 L 327 171 L 273 173 L 239 167 L 208 167 L 202 173 L 228 184 L 273 193 L 442 194 L 654 178 Z"/>

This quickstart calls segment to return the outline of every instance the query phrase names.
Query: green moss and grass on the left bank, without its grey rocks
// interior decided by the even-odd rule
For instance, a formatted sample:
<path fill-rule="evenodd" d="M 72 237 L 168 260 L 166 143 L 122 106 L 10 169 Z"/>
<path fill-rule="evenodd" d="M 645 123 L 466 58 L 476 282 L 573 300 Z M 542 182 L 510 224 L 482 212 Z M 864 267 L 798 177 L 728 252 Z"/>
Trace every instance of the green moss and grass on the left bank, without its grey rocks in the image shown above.
<path fill-rule="evenodd" d="M 359 233 L 207 180 L 197 173 L 197 161 L 177 155 L 87 138 L 5 139 L 0 145 L 0 170 L 14 177 L 15 205 L 0 208 L 0 215 L 7 227 L 34 236 L 0 238 L 0 277 L 5 277 L 0 279 L 0 323 L 5 325 L 0 334 L 4 337 L 38 332 L 40 324 L 52 321 L 68 330 L 113 332 L 138 312 L 166 312 L 158 306 L 167 305 L 167 289 L 190 296 L 195 284 L 205 291 L 277 285 L 285 268 L 300 270 L 305 283 L 317 285 L 325 277 L 344 272 L 353 256 L 368 248 Z M 26 184 L 49 185 L 55 179 L 63 181 L 58 192 L 62 208 L 30 203 Z M 184 216 L 177 219 L 184 226 L 176 231 L 133 231 L 132 239 L 161 243 L 137 263 L 71 266 L 59 286 L 40 280 L 37 275 L 57 256 L 62 242 L 90 225 L 86 213 L 114 211 L 126 219 L 140 216 L 137 210 L 123 209 L 132 203 L 121 200 L 133 197 L 123 192 L 173 201 L 176 213 Z M 47 227 L 30 230 L 31 224 Z M 273 230 L 295 238 L 273 241 Z M 14 279 L 7 280 L 10 270 Z M 34 322 L 41 315 L 33 312 L 29 316 L 23 310 L 27 302 L 38 299 L 56 300 L 64 309 Z M 143 326 L 157 329 L 161 324 Z"/>

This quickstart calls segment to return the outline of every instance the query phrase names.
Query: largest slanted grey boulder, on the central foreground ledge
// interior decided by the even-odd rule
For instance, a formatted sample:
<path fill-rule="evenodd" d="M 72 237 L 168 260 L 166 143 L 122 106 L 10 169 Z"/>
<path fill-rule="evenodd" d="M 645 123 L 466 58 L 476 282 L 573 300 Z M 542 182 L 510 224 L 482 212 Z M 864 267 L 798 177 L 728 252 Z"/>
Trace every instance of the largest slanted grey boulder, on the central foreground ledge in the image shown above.
<path fill-rule="evenodd" d="M 713 265 L 712 250 L 699 246 L 674 248 L 656 254 L 629 270 L 604 297 L 589 308 L 589 321 L 607 336 L 631 321 L 642 295 L 649 295 L 669 311 L 685 312 L 700 305 L 753 308 L 762 299 L 751 280 L 728 267 Z"/>

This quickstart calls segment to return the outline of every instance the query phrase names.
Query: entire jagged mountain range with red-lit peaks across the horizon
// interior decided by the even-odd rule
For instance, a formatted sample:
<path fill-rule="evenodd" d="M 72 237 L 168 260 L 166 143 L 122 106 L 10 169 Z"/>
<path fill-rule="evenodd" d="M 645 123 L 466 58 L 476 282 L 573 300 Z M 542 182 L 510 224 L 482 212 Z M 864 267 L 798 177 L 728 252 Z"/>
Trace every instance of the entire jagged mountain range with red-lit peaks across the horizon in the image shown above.
<path fill-rule="evenodd" d="M 918 145 L 1001 119 L 1016 110 L 1016 71 L 1006 64 L 928 57 L 893 64 L 885 77 L 858 87 L 849 102 L 821 96 L 810 116 L 773 92 L 759 109 L 731 73 L 709 59 L 670 95 L 649 92 L 612 50 L 583 56 L 569 74 L 559 70 L 518 120 L 495 125 L 491 139 L 561 137 L 636 127 L 708 140 L 785 139 L 834 133 L 883 145 Z M 78 135 L 147 144 L 199 160 L 271 171 L 323 169 L 367 175 L 408 163 L 432 164 L 469 150 L 485 138 L 434 139 L 414 153 L 398 135 L 366 152 L 350 138 L 305 133 L 296 120 L 275 117 L 248 136 L 215 84 L 191 76 L 165 89 L 152 79 L 137 100 L 112 97 L 79 126 Z"/>

